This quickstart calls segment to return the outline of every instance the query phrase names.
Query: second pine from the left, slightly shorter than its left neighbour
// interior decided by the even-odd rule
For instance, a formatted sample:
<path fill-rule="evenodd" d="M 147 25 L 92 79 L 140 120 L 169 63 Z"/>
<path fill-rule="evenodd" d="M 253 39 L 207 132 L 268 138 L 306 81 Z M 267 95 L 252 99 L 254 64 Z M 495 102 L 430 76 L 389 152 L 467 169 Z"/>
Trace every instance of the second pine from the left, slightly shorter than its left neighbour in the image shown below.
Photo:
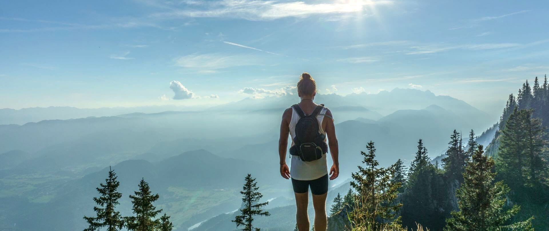
<path fill-rule="evenodd" d="M 158 200 L 158 194 L 152 194 L 149 184 L 141 179 L 139 191 L 130 195 L 132 199 L 132 211 L 135 216 L 126 217 L 127 229 L 132 231 L 154 231 L 160 226 L 160 219 L 155 219 L 162 210 L 156 210 L 153 202 Z"/>

